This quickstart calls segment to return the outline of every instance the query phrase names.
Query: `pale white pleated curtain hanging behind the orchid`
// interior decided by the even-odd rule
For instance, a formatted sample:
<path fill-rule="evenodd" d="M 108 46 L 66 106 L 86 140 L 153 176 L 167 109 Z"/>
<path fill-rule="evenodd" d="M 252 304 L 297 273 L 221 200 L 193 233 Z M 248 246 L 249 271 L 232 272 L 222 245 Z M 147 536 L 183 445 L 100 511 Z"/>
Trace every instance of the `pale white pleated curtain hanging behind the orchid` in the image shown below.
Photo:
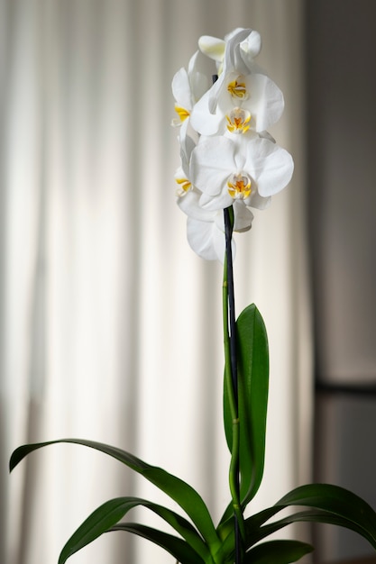
<path fill-rule="evenodd" d="M 8 476 L 23 442 L 104 441 L 186 479 L 216 518 L 228 501 L 222 268 L 188 248 L 175 205 L 170 81 L 200 35 L 237 26 L 261 32 L 260 63 L 286 99 L 272 133 L 296 163 L 238 237 L 235 261 L 238 313 L 255 302 L 269 332 L 267 461 L 252 508 L 271 505 L 310 473 L 302 3 L 3 0 L 0 16 L 0 558 L 57 562 L 111 497 L 166 502 L 74 445 L 39 451 Z M 71 561 L 172 559 L 111 533 Z"/>

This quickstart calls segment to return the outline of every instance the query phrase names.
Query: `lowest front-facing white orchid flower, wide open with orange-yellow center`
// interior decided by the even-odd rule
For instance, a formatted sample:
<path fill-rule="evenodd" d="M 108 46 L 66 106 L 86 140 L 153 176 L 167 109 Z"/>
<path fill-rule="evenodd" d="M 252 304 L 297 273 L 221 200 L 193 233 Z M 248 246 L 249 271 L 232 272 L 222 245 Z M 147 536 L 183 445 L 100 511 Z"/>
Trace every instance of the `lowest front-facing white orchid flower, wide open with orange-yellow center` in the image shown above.
<path fill-rule="evenodd" d="M 189 177 L 204 209 L 225 209 L 237 200 L 262 208 L 289 184 L 293 168 L 289 152 L 269 139 L 215 136 L 201 138 L 192 151 Z"/>

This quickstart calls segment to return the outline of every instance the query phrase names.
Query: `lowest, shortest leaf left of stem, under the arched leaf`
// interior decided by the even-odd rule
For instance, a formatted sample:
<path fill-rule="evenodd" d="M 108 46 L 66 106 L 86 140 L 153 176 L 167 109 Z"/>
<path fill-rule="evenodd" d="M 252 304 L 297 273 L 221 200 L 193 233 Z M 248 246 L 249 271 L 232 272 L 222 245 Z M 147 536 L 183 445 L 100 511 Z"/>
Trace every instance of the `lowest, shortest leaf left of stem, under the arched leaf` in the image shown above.
<path fill-rule="evenodd" d="M 206 564 L 210 560 L 203 560 L 197 552 L 192 550 L 186 541 L 168 534 L 167 532 L 152 529 L 146 525 L 138 523 L 119 523 L 111 531 L 126 531 L 138 534 L 144 539 L 158 544 L 162 549 L 167 550 L 179 562 L 179 564 Z"/>

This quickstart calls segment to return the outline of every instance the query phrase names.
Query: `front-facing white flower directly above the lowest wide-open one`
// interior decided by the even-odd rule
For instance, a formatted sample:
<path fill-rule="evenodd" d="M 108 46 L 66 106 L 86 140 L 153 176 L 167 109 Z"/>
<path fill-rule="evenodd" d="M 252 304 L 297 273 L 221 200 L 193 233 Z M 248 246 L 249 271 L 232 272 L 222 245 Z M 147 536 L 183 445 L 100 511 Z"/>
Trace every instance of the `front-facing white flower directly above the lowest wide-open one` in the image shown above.
<path fill-rule="evenodd" d="M 262 132 L 280 119 L 284 108 L 280 88 L 261 74 L 231 72 L 222 81 L 214 113 L 210 112 L 211 99 L 212 89 L 201 97 L 191 114 L 192 126 L 202 135 L 223 134 L 226 129 Z"/>

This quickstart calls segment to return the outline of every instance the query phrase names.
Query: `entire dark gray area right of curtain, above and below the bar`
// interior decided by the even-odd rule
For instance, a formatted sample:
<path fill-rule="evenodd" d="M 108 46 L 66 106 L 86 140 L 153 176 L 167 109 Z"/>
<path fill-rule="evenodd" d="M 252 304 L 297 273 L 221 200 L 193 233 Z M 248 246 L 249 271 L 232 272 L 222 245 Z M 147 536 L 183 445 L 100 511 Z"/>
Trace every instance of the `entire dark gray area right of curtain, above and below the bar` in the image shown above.
<path fill-rule="evenodd" d="M 316 398 L 315 479 L 376 508 L 376 396 L 358 393 L 376 387 L 376 2 L 306 5 L 316 380 L 332 390 Z M 374 554 L 353 532 L 315 532 L 316 561 Z"/>

